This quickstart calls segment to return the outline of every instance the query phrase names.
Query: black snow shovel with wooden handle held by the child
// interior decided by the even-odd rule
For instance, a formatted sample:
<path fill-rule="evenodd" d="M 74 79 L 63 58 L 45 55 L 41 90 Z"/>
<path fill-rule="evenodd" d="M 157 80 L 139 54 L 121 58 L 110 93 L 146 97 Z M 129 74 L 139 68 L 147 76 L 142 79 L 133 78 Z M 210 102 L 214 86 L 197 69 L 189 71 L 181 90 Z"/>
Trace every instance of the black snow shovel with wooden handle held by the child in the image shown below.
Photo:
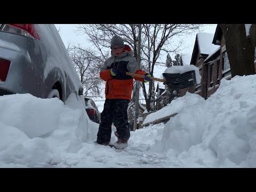
<path fill-rule="evenodd" d="M 132 77 L 140 77 L 140 78 L 145 77 L 144 75 L 138 75 L 138 74 L 133 74 L 129 72 L 126 72 L 126 75 L 130 75 Z M 166 84 L 172 90 L 181 90 L 181 89 L 185 89 L 187 87 L 196 85 L 196 74 L 194 70 L 190 70 L 182 74 L 163 73 L 163 77 L 164 79 L 155 78 L 155 77 L 149 77 L 149 78 L 158 82 L 163 82 L 164 85 Z"/>

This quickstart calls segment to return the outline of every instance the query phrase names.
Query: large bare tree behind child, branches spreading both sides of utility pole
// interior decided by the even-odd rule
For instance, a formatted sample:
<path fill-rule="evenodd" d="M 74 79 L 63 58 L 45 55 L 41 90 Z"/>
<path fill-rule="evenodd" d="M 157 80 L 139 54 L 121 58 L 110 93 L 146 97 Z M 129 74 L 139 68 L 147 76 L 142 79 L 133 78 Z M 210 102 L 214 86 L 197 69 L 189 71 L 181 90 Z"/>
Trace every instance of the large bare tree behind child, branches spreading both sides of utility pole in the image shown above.
<path fill-rule="evenodd" d="M 151 76 L 154 74 L 155 65 L 165 65 L 158 62 L 163 52 L 178 52 L 183 43 L 182 37 L 187 34 L 199 31 L 202 25 L 195 24 L 143 24 L 141 29 L 141 65 L 140 68 L 147 71 Z M 97 48 L 98 54 L 103 58 L 109 57 L 109 48 L 111 38 L 114 35 L 121 36 L 125 44 L 129 45 L 137 59 L 138 28 L 135 25 L 114 25 L 114 24 L 95 24 L 78 25 L 76 33 L 85 34 L 87 40 Z M 177 45 L 174 45 L 173 38 L 180 38 Z M 153 84 L 149 83 L 149 89 L 143 87 L 143 95 L 146 100 L 146 108 L 150 111 L 150 100 Z"/>

